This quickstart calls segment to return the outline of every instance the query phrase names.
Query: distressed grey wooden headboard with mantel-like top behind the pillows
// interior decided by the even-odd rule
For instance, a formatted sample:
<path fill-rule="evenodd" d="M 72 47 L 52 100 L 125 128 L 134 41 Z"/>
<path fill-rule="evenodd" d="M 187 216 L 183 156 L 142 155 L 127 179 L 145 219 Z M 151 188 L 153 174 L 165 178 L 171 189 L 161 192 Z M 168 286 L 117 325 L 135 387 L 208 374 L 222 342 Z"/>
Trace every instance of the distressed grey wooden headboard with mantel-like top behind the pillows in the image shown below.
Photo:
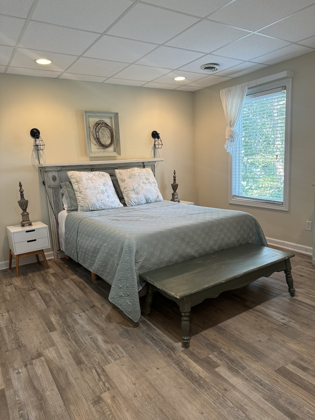
<path fill-rule="evenodd" d="M 55 258 L 63 258 L 64 252 L 60 249 L 58 214 L 63 210 L 61 183 L 69 181 L 67 171 L 105 171 L 114 174 L 115 169 L 145 168 L 149 167 L 155 173 L 156 162 L 163 159 L 142 159 L 128 161 L 98 161 L 98 162 L 70 162 L 70 163 L 41 163 L 38 165 L 43 178 L 49 212 L 51 228 L 51 242 Z"/>

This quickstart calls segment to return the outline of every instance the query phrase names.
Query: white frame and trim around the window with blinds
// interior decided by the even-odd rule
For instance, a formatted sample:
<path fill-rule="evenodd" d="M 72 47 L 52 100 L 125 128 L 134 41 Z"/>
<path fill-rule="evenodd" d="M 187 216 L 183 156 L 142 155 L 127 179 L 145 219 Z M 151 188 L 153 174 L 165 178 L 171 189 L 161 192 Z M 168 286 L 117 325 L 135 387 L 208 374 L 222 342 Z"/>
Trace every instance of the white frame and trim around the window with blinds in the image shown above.
<path fill-rule="evenodd" d="M 280 211 L 289 211 L 289 159 L 290 159 L 290 126 L 291 126 L 291 90 L 292 79 L 285 78 L 273 82 L 263 83 L 248 89 L 247 95 L 254 95 L 271 89 L 285 86 L 286 102 L 285 102 L 285 136 L 284 136 L 284 197 L 283 202 L 268 201 L 259 198 L 247 198 L 233 196 L 233 156 L 229 155 L 229 204 L 236 204 L 248 207 L 258 207 L 262 209 L 272 209 Z"/>

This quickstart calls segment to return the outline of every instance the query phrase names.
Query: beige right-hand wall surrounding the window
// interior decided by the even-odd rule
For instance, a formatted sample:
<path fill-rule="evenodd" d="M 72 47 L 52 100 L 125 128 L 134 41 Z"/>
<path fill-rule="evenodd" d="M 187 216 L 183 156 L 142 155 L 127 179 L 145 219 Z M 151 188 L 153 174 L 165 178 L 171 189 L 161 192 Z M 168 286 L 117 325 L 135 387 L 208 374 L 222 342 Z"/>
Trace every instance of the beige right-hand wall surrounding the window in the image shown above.
<path fill-rule="evenodd" d="M 220 90 L 280 71 L 294 71 L 291 108 L 289 212 L 262 210 L 228 203 L 226 122 Z M 199 205 L 243 210 L 253 214 L 265 235 L 312 247 L 315 187 L 315 53 L 273 65 L 246 76 L 195 92 L 196 202 Z"/>

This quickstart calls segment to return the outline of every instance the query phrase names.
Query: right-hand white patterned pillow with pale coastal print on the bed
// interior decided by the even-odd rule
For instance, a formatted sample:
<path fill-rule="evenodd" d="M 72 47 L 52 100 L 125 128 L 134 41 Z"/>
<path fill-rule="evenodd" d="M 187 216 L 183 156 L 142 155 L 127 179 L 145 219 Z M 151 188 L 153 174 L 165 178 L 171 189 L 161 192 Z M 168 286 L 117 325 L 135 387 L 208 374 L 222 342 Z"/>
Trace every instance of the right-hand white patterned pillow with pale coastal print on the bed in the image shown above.
<path fill-rule="evenodd" d="M 127 206 L 163 200 L 150 168 L 115 169 L 115 174 Z"/>

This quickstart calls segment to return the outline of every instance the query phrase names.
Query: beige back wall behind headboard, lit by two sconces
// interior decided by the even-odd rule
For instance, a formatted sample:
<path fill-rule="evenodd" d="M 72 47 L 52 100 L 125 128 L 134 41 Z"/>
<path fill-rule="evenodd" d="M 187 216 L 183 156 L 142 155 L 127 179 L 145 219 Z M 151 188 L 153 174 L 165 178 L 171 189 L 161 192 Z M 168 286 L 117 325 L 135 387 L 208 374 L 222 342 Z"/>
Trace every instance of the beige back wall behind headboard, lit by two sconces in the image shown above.
<path fill-rule="evenodd" d="M 30 219 L 49 223 L 30 130 L 39 129 L 46 145 L 41 163 L 89 161 L 85 110 L 119 113 L 118 159 L 152 158 L 151 132 L 157 130 L 163 141 L 157 157 L 164 162 L 157 164 L 156 177 L 163 197 L 171 198 L 176 169 L 180 198 L 194 200 L 193 93 L 0 74 L 0 268 L 8 261 L 5 226 L 21 221 L 19 181 Z"/>

